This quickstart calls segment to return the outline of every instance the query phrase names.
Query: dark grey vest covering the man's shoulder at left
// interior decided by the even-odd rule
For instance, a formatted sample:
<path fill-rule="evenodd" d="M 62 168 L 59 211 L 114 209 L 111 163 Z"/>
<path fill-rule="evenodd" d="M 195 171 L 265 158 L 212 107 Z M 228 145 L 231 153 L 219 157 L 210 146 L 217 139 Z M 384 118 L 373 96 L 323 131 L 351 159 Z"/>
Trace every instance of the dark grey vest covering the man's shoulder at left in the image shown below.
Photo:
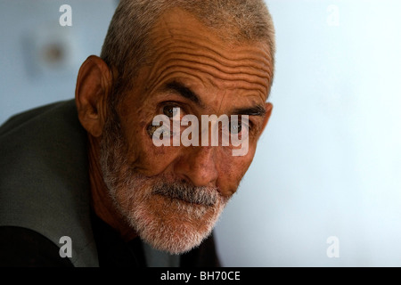
<path fill-rule="evenodd" d="M 69 236 L 74 265 L 97 262 L 86 139 L 73 100 L 29 110 L 0 127 L 0 226 L 37 232 L 57 248 Z"/>

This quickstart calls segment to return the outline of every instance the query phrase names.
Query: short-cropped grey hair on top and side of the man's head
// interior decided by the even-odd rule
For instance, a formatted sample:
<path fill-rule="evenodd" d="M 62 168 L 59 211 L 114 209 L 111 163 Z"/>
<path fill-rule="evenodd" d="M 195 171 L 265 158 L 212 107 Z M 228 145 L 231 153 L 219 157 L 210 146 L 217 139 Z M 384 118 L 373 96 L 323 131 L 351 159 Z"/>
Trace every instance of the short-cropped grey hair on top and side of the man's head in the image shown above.
<path fill-rule="evenodd" d="M 274 23 L 263 0 L 121 0 L 101 53 L 102 60 L 119 73 L 113 86 L 115 93 L 127 91 L 138 70 L 149 60 L 148 34 L 160 16 L 175 7 L 192 13 L 225 40 L 266 43 L 274 66 Z"/>

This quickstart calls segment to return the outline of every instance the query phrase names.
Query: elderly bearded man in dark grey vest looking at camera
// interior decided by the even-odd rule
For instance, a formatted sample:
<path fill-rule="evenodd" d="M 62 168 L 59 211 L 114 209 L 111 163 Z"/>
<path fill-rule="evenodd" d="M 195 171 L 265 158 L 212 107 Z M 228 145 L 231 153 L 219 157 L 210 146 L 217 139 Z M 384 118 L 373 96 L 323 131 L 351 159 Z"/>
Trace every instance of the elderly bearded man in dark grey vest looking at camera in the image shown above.
<path fill-rule="evenodd" d="M 219 265 L 212 230 L 270 117 L 273 74 L 262 0 L 122 0 L 75 101 L 0 129 L 1 265 Z M 177 128 L 158 133 L 160 115 Z M 246 151 L 203 141 L 205 115 L 229 118 L 219 135 Z M 184 126 L 192 144 L 155 143 Z"/>

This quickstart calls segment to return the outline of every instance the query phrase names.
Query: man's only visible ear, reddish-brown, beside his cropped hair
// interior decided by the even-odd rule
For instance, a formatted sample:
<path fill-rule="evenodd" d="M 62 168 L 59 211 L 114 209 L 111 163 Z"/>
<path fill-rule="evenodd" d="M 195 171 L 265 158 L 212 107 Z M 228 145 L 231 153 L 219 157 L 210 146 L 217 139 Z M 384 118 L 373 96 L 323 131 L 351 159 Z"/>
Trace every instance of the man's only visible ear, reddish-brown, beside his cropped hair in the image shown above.
<path fill-rule="evenodd" d="M 75 102 L 81 125 L 94 137 L 102 134 L 111 85 L 107 64 L 100 57 L 89 56 L 78 72 Z"/>

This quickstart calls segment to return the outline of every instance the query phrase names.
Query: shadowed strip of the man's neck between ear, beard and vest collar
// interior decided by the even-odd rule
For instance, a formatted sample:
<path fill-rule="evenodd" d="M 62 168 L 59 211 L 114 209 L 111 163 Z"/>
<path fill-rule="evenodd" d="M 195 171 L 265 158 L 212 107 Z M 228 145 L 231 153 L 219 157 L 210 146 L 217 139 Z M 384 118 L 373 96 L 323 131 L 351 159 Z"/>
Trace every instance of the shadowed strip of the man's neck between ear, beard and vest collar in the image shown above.
<path fill-rule="evenodd" d="M 118 231 L 123 240 L 132 240 L 137 236 L 137 233 L 129 226 L 126 219 L 114 206 L 109 195 L 109 190 L 103 181 L 102 170 L 99 163 L 99 142 L 90 134 L 88 139 L 89 179 L 94 213 L 105 223 Z"/>

